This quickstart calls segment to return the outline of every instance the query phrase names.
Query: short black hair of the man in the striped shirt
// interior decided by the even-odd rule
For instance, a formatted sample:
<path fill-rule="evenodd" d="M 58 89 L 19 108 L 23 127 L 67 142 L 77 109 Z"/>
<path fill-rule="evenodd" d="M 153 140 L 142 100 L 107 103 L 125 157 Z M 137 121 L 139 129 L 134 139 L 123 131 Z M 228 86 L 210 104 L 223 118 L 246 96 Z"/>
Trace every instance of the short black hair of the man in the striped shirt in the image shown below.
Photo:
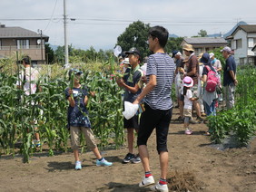
<path fill-rule="evenodd" d="M 157 25 L 150 28 L 149 35 L 151 35 L 153 39 L 158 38 L 160 46 L 164 48 L 168 41 L 169 32 L 164 27 Z"/>

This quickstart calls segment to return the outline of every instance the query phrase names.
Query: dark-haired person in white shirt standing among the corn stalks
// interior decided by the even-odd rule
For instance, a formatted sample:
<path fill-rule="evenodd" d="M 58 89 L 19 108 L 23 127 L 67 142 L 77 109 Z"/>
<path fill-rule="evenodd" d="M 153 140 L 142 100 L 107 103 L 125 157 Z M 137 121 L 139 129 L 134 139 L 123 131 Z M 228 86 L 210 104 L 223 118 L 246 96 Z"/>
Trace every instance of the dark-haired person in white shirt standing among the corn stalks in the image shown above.
<path fill-rule="evenodd" d="M 22 72 L 20 72 L 18 80 L 16 82 L 17 88 L 23 89 L 25 91 L 25 95 L 31 95 L 36 92 L 36 82 L 39 78 L 39 72 L 30 66 L 30 62 L 31 59 L 29 56 L 25 56 L 22 59 L 24 69 L 22 70 Z M 31 104 L 34 105 L 35 103 L 31 102 Z M 40 147 L 40 136 L 39 133 L 36 131 L 38 130 L 36 124 L 37 120 L 34 120 L 34 136 L 36 140 L 33 141 L 33 146 L 35 145 L 35 147 Z"/>

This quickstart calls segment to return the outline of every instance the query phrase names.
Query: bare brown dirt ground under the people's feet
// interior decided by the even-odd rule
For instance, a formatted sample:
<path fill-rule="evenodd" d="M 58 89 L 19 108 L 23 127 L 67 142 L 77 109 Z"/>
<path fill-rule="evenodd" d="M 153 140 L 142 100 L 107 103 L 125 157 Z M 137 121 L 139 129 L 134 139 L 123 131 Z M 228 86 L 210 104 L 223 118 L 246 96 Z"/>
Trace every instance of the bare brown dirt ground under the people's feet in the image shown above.
<path fill-rule="evenodd" d="M 190 189 L 198 185 L 193 191 L 203 192 L 256 191 L 256 139 L 251 141 L 250 148 L 214 149 L 210 138 L 203 136 L 205 124 L 192 125 L 191 136 L 183 134 L 182 123 L 173 122 L 177 111 L 173 110 L 168 137 L 169 170 L 176 176 L 176 187 Z M 154 134 L 148 148 L 153 176 L 158 180 L 160 168 Z M 104 150 L 103 156 L 113 161 L 110 168 L 96 167 L 94 154 L 85 152 L 81 171 L 74 170 L 72 152 L 54 157 L 47 157 L 47 151 L 36 153 L 29 164 L 24 164 L 18 155 L 14 159 L 2 156 L 0 191 L 149 191 L 148 187 L 138 187 L 143 177 L 142 164 L 122 164 L 126 152 L 125 148 Z M 174 191 L 173 187 L 170 191 Z"/>

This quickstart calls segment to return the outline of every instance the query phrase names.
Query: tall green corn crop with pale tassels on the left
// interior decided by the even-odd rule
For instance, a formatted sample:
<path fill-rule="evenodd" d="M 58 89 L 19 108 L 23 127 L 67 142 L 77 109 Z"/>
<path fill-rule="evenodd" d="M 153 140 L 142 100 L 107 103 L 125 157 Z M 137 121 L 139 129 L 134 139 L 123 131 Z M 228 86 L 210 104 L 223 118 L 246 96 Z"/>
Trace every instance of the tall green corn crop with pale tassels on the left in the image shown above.
<path fill-rule="evenodd" d="M 115 68 L 113 59 L 106 63 L 77 63 L 72 67 L 84 72 L 81 84 L 89 91 L 95 91 L 95 97 L 89 97 L 87 108 L 100 148 L 122 146 L 122 90 L 111 78 Z M 66 152 L 70 138 L 66 118 L 68 101 L 64 98 L 64 90 L 69 86 L 67 70 L 57 63 L 43 66 L 37 82 L 40 91 L 37 89 L 35 94 L 27 96 L 15 85 L 20 69 L 20 64 L 12 59 L 1 62 L 0 154 L 15 157 L 19 149 L 24 162 L 28 162 L 35 150 L 32 146 L 34 132 L 40 134 L 49 156 L 54 155 L 55 150 Z M 37 121 L 36 126 L 32 123 L 34 120 Z M 84 151 L 84 139 L 81 141 Z"/>

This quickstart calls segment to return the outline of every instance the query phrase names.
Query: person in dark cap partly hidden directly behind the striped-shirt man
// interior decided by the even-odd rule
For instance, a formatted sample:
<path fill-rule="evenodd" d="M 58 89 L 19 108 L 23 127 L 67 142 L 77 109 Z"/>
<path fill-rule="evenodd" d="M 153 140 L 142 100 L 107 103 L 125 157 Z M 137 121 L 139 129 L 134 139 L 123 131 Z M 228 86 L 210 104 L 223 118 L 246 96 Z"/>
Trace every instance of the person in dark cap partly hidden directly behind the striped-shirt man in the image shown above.
<path fill-rule="evenodd" d="M 179 103 L 179 110 L 180 110 L 180 116 L 177 120 L 183 120 L 183 96 L 181 94 L 182 89 L 182 79 L 183 79 L 183 70 L 184 69 L 184 63 L 182 58 L 182 53 L 178 51 L 172 52 L 172 58 L 174 58 L 174 62 L 176 64 L 176 70 L 175 70 L 175 92 L 176 97 Z"/>

